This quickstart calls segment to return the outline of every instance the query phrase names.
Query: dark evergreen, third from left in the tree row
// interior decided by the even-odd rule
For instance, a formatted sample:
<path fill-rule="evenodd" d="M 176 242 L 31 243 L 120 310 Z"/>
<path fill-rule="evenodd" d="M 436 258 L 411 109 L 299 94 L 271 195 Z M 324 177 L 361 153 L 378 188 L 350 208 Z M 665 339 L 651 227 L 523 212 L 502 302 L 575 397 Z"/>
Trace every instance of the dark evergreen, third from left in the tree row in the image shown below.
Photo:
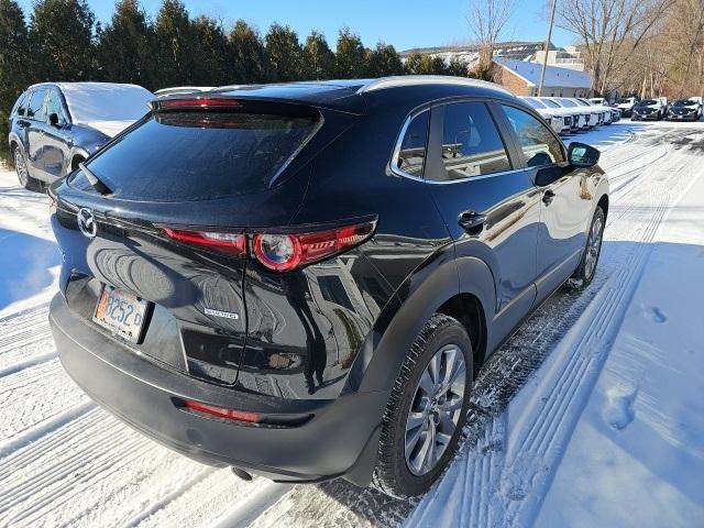
<path fill-rule="evenodd" d="M 99 76 L 112 82 L 154 88 L 153 31 L 138 0 L 120 0 L 112 20 L 99 31 Z"/>

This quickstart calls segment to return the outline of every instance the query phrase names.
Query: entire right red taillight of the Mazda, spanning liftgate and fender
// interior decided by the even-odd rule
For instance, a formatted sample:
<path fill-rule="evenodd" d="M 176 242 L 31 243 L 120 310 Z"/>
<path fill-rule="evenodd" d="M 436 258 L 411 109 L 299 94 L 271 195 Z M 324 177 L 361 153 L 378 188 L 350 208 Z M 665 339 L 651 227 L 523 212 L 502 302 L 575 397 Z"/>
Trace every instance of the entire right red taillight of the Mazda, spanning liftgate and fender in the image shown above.
<path fill-rule="evenodd" d="M 164 229 L 164 233 L 179 242 L 200 245 L 232 256 L 256 258 L 276 272 L 289 272 L 315 262 L 324 261 L 367 240 L 375 221 L 366 221 L 320 231 L 224 233 Z M 251 248 L 248 248 L 251 246 Z"/>

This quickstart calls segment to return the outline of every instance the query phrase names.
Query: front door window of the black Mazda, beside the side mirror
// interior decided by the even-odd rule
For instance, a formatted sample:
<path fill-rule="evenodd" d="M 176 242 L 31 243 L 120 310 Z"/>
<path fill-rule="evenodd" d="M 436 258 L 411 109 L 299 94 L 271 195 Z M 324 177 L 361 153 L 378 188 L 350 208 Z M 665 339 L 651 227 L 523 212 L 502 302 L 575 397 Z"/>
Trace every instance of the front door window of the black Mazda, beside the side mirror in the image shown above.
<path fill-rule="evenodd" d="M 560 141 L 544 124 L 515 107 L 502 105 L 502 108 L 516 132 L 527 166 L 540 167 L 564 162 Z"/>

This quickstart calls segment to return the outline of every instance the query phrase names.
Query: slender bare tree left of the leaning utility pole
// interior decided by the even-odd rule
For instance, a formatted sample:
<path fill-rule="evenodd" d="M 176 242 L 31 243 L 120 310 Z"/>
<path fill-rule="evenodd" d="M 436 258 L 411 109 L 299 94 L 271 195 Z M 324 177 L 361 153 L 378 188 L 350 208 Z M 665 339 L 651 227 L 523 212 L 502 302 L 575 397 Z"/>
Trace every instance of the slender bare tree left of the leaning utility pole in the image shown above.
<path fill-rule="evenodd" d="M 515 0 L 470 0 L 466 21 L 480 47 L 480 70 L 491 67 L 494 46 L 510 19 L 514 4 Z"/>

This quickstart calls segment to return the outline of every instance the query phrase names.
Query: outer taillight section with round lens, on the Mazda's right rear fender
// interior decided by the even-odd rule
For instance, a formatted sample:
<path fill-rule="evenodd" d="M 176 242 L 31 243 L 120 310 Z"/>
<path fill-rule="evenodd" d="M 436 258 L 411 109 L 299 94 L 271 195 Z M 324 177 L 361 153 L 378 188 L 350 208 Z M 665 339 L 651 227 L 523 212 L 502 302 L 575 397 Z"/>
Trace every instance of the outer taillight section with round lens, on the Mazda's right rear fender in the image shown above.
<path fill-rule="evenodd" d="M 276 272 L 288 272 L 329 258 L 369 239 L 375 222 L 304 234 L 260 233 L 254 235 L 254 256 Z"/>

